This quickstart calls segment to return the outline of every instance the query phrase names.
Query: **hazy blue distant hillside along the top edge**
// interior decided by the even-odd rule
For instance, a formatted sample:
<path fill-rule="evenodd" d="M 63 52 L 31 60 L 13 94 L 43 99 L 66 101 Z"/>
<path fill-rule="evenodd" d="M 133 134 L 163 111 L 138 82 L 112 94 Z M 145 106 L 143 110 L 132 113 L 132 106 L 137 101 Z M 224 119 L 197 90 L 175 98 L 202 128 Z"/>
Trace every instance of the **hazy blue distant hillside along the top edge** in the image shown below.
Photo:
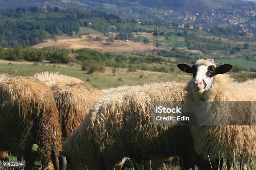
<path fill-rule="evenodd" d="M 29 6 L 59 6 L 102 10 L 104 12 L 132 15 L 144 10 L 209 11 L 229 9 L 236 0 L 0 0 L 0 9 Z M 117 8 L 116 8 L 117 7 Z M 149 8 L 148 8 L 149 7 Z M 134 15 L 136 15 L 134 14 Z"/>

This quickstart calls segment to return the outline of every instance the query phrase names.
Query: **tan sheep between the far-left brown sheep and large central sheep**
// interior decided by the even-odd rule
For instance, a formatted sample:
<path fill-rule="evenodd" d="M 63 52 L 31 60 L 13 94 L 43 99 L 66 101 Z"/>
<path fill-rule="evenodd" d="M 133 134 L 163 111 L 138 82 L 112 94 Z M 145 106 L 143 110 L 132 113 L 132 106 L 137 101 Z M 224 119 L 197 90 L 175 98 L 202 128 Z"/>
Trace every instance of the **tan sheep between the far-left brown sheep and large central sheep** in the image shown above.
<path fill-rule="evenodd" d="M 103 95 L 100 90 L 83 82 L 57 83 L 50 88 L 59 111 L 63 138 L 69 137 L 94 102 Z"/>

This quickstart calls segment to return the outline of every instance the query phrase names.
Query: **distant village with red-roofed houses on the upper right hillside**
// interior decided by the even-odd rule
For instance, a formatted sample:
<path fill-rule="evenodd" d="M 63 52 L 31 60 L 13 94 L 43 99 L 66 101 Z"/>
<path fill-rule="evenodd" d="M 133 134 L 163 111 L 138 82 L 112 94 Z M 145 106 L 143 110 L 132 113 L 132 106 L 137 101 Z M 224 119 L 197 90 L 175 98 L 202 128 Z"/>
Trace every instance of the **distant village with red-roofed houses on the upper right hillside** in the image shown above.
<path fill-rule="evenodd" d="M 184 11 L 184 13 L 175 10 L 166 10 L 164 12 L 159 10 L 158 13 L 160 20 L 176 20 L 180 29 L 189 28 L 209 31 L 210 29 L 204 28 L 203 25 L 221 24 L 223 27 L 233 25 L 238 28 L 238 32 L 245 32 L 246 37 L 256 37 L 256 19 L 250 19 L 256 17 L 256 2 L 241 2 L 241 4 L 232 10 Z M 141 24 L 139 19 L 135 21 Z M 172 26 L 170 24 L 170 27 Z"/>

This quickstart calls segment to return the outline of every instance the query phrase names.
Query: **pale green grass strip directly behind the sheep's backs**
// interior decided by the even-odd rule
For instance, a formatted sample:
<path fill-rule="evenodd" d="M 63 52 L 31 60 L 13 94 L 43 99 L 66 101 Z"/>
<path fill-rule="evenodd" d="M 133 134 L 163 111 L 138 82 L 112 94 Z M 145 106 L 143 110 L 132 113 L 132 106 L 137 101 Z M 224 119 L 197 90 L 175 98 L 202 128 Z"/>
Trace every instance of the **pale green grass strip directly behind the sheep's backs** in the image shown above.
<path fill-rule="evenodd" d="M 7 73 L 12 76 L 33 76 L 36 72 L 59 72 L 63 75 L 77 77 L 80 80 L 89 83 L 93 87 L 106 89 L 110 87 L 118 87 L 120 85 L 143 85 L 148 82 L 172 81 L 187 82 L 189 75 L 177 75 L 176 73 L 141 71 L 127 72 L 127 69 L 117 69 L 113 73 L 113 69 L 106 67 L 104 72 L 95 72 L 87 74 L 82 71 L 80 66 L 64 67 L 63 65 L 28 65 L 28 64 L 8 64 L 0 63 L 0 72 Z M 142 78 L 140 77 L 142 75 Z M 108 83 L 106 83 L 108 82 Z"/>

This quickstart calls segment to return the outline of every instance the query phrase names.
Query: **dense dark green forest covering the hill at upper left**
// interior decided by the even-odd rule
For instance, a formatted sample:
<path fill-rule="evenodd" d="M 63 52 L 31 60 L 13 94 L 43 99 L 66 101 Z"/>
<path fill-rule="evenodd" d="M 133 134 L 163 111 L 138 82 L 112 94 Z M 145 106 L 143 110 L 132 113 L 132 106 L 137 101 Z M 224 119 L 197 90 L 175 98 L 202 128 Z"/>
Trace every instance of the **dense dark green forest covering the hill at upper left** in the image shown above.
<path fill-rule="evenodd" d="M 116 15 L 94 10 L 61 10 L 59 7 L 50 10 L 40 7 L 1 10 L 0 45 L 31 46 L 55 35 L 75 35 L 79 27 L 87 26 L 90 20 L 94 22 L 92 28 L 101 31 L 121 22 Z"/>

